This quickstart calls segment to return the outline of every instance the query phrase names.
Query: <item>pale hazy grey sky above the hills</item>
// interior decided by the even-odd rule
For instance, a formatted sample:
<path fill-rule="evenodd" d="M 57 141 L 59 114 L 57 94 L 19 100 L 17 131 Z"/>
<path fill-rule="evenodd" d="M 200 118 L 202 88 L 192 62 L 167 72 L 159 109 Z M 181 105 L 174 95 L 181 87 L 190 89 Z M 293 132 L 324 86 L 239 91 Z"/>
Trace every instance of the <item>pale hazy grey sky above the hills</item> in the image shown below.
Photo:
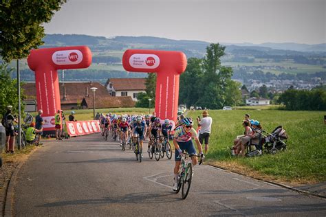
<path fill-rule="evenodd" d="M 326 43 L 326 0 L 67 0 L 46 34 Z"/>

